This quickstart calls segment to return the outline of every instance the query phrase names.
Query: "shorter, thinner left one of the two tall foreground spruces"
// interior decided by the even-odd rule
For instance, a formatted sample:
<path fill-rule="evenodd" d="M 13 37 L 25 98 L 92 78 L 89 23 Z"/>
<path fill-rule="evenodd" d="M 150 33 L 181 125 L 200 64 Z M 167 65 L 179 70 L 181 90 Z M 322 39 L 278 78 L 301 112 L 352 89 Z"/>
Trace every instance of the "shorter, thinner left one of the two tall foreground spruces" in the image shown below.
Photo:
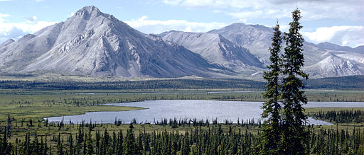
<path fill-rule="evenodd" d="M 281 127 L 280 122 L 280 110 L 279 105 L 279 74 L 280 58 L 279 53 L 282 48 L 282 36 L 279 30 L 279 24 L 274 27 L 274 33 L 272 38 L 272 46 L 269 47 L 271 64 L 267 67 L 269 71 L 264 72 L 263 78 L 267 81 L 266 91 L 263 93 L 264 98 L 268 98 L 268 101 L 263 103 L 262 118 L 265 118 L 262 125 L 262 141 L 259 143 L 259 154 L 277 154 L 279 152 L 279 142 L 281 141 Z"/>

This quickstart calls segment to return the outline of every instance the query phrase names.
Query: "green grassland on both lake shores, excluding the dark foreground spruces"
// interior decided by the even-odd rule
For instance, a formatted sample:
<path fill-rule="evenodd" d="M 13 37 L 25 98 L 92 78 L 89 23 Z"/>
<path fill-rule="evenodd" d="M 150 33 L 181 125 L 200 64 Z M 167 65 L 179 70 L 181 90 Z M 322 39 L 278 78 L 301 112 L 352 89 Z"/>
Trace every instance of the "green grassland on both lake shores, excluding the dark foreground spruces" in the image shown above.
<path fill-rule="evenodd" d="M 250 91 L 246 89 L 152 89 L 152 90 L 32 90 L 32 89 L 1 89 L 0 90 L 0 129 L 7 125 L 8 114 L 12 120 L 12 138 L 9 142 L 16 142 L 16 139 L 23 140 L 27 133 L 32 137 L 45 136 L 49 144 L 55 146 L 54 137 L 60 134 L 65 139 L 71 133 L 77 133 L 77 124 L 46 123 L 44 117 L 55 117 L 63 115 L 80 115 L 86 112 L 96 111 L 122 111 L 140 110 L 137 107 L 119 107 L 105 105 L 105 103 L 133 102 L 146 100 L 218 100 L 218 101 L 265 101 L 262 98 L 263 91 Z M 364 101 L 364 91 L 360 90 L 321 90 L 307 89 L 306 95 L 309 101 Z M 331 110 L 364 110 L 364 108 L 306 108 L 306 114 L 328 112 Z M 87 122 L 85 122 L 87 123 Z M 140 132 L 178 132 L 184 134 L 186 130 L 195 130 L 192 125 L 173 128 L 169 125 L 134 125 L 135 134 Z M 257 134 L 259 125 L 242 126 L 237 124 L 223 125 L 223 131 L 228 132 L 230 127 L 234 130 L 242 130 Z M 339 123 L 336 125 L 314 125 L 314 131 L 319 130 L 348 130 L 362 129 L 364 123 Z M 103 132 L 107 129 L 109 134 L 122 131 L 124 135 L 129 125 L 99 124 L 92 129 L 92 135 L 96 131 Z M 209 127 L 200 127 L 202 130 L 209 130 Z M 87 127 L 85 130 L 88 131 Z M 1 130 L 2 132 L 2 130 Z M 55 149 L 55 148 L 54 148 Z"/>

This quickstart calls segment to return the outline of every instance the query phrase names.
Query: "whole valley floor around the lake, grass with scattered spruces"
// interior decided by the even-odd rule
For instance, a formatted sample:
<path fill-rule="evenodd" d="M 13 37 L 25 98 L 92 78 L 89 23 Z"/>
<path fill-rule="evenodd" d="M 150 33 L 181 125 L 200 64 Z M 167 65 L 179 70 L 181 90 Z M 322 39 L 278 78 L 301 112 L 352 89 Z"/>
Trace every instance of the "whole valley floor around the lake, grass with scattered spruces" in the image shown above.
<path fill-rule="evenodd" d="M 5 81 L 11 82 L 11 81 Z M 191 86 L 196 84 L 196 82 L 203 81 L 192 81 L 190 83 Z M 205 81 L 206 82 L 206 81 Z M 207 81 L 208 83 L 213 84 L 213 81 Z M 173 81 L 175 84 L 176 81 Z M 247 84 L 242 82 L 243 84 Z M 134 101 L 149 101 L 149 100 L 216 100 L 216 101 L 265 101 L 262 97 L 263 90 L 262 88 L 255 88 L 254 86 L 250 86 L 249 88 L 139 88 L 139 86 L 144 86 L 144 84 L 150 84 L 150 87 L 153 86 L 163 86 L 163 83 L 156 82 L 155 85 L 152 83 L 142 83 L 138 85 L 118 85 L 119 88 L 107 89 L 109 87 L 115 87 L 117 85 L 112 84 L 91 84 L 85 85 L 85 89 L 73 89 L 68 88 L 69 85 L 51 85 L 49 83 L 42 83 L 36 85 L 36 87 L 31 86 L 31 82 L 18 82 L 16 84 L 4 84 L 2 89 L 0 89 L 0 132 L 4 133 L 4 129 L 9 126 L 8 121 L 11 120 L 11 139 L 8 139 L 7 142 L 13 144 L 13 146 L 18 146 L 19 148 L 23 148 L 23 142 L 26 141 L 26 138 L 30 137 L 30 140 L 33 141 L 36 136 L 39 139 L 45 140 L 47 139 L 48 144 L 48 152 L 52 151 L 56 153 L 60 151 L 58 145 L 60 145 L 60 141 L 63 139 L 63 151 L 67 151 L 70 147 L 70 144 L 67 139 L 69 139 L 70 135 L 73 135 L 73 139 L 76 139 L 76 134 L 79 135 L 80 126 L 82 130 L 85 130 L 86 134 L 90 127 L 92 127 L 92 131 L 90 134 L 92 135 L 92 142 L 96 142 L 97 132 L 103 133 L 107 130 L 107 135 L 112 137 L 115 133 L 119 133 L 120 131 L 123 135 L 127 135 L 127 130 L 129 130 L 129 125 L 118 125 L 116 122 L 113 124 L 98 124 L 98 125 L 90 125 L 90 122 L 85 122 L 84 125 L 77 124 L 61 124 L 61 123 L 48 123 L 44 122 L 44 117 L 55 117 L 55 116 L 63 116 L 63 115 L 80 115 L 86 112 L 96 112 L 96 111 L 122 111 L 122 110 L 140 110 L 142 108 L 130 108 L 130 107 L 119 107 L 119 106 L 110 106 L 105 105 L 105 103 L 119 103 L 119 102 L 134 102 Z M 34 84 L 34 83 L 33 83 Z M 224 83 L 229 84 L 229 82 Z M 83 86 L 83 83 L 77 83 L 74 86 Z M 187 85 L 187 86 L 190 86 Z M 6 86 L 14 86 L 14 88 L 4 88 Z M 97 86 L 104 86 L 106 88 L 98 88 Z M 133 86 L 134 88 L 127 89 L 127 86 Z M 182 86 L 182 85 L 181 85 Z M 88 88 L 92 87 L 92 88 Z M 156 86 L 157 87 L 157 86 Z M 222 86 L 223 87 L 223 86 Z M 65 89 L 68 88 L 68 89 Z M 336 89 L 336 88 L 311 88 L 306 89 L 306 96 L 309 98 L 309 101 L 353 101 L 353 102 L 364 102 L 364 91 L 361 89 Z M 316 117 L 320 120 L 326 120 L 334 123 L 335 125 L 312 125 L 308 126 L 307 129 L 310 131 L 311 135 L 311 153 L 319 154 L 319 152 L 324 152 L 324 150 L 329 149 L 322 146 L 326 146 L 326 144 L 331 144 L 331 140 L 333 137 L 344 136 L 351 137 L 347 139 L 345 142 L 338 142 L 337 144 L 332 144 L 332 146 L 336 146 L 336 151 L 341 152 L 349 152 L 356 151 L 359 153 L 363 151 L 364 142 L 358 142 L 355 140 L 355 137 L 364 137 L 363 127 L 364 127 L 364 115 L 356 115 L 355 117 L 350 117 L 350 119 L 346 119 L 346 122 L 338 122 L 337 120 L 343 121 L 343 118 L 333 117 L 332 112 L 339 113 L 340 111 L 346 112 L 349 115 L 350 113 L 364 112 L 364 108 L 306 108 L 306 114 Z M 9 117 L 10 116 L 10 119 Z M 206 124 L 205 122 L 187 122 L 177 123 L 177 122 L 164 122 L 159 125 L 134 125 L 134 134 L 139 138 L 139 135 L 149 135 L 146 137 L 150 137 L 152 135 L 164 135 L 164 132 L 171 133 L 170 136 L 177 136 L 181 134 L 186 136 L 186 132 L 189 133 L 189 138 L 198 138 L 193 137 L 195 134 L 208 134 L 208 131 L 218 131 L 220 127 L 220 131 L 224 135 L 221 134 L 221 137 L 224 137 L 228 142 L 229 135 L 231 131 L 234 131 L 236 135 L 244 135 L 241 137 L 244 139 L 247 135 L 250 135 L 250 140 L 237 140 L 237 142 L 250 142 L 249 146 L 243 147 L 240 146 L 239 152 L 243 151 L 243 149 L 256 147 L 255 144 L 257 142 L 259 133 L 259 123 L 252 124 L 249 122 L 243 122 L 245 124 L 230 124 L 230 122 L 225 122 L 220 125 L 217 124 Z M 83 129 L 85 128 L 85 129 Z M 145 134 L 147 133 L 147 134 Z M 314 133 L 314 134 L 313 134 Z M 359 133 L 359 134 L 358 134 Z M 234 134 L 234 135 L 235 135 Z M 319 136 L 321 135 L 321 137 Z M 59 138 L 60 137 L 60 138 Z M 141 137 L 143 138 L 143 137 Z M 144 137 L 145 138 L 145 137 Z M 200 137 L 202 138 L 202 137 Z M 322 139 L 323 138 L 323 139 Z M 1 138 L 4 139 L 4 138 Z M 362 138 L 363 139 L 363 138 Z M 156 139 L 154 139 L 156 140 Z M 178 139 L 181 145 L 183 144 L 182 139 Z M 322 140 L 322 141 L 321 141 Z M 340 139 L 338 139 L 340 140 Z M 67 141 L 67 142 L 66 142 Z M 138 142 L 138 139 L 137 139 Z M 225 141 L 221 141 L 225 142 Z M 336 142 L 336 141 L 333 141 Z M 346 143 L 348 148 L 338 147 Z M 354 145 L 354 143 L 357 145 Z M 155 143 L 154 143 L 155 144 Z M 349 146 L 350 144 L 350 146 Z M 218 146 L 224 144 L 218 144 Z M 322 146 L 321 146 L 322 145 Z M 92 146 L 96 146 L 96 143 L 92 143 Z M 197 151 L 198 141 L 191 141 L 191 144 L 188 145 L 190 148 L 190 152 Z M 225 147 L 224 147 L 225 146 Z M 227 145 L 220 146 L 218 150 L 220 151 L 228 151 L 231 149 L 227 147 Z M 229 145 L 230 146 L 230 145 Z M 321 147 L 320 147 L 321 146 Z M 110 146 L 109 146 L 110 147 Z M 52 148 L 52 150 L 49 150 Z M 82 147 L 83 148 L 83 147 Z M 111 148 L 111 147 L 110 147 Z M 145 148 L 145 146 L 144 146 Z M 151 149 L 155 149 L 156 146 L 150 147 Z M 225 148 L 227 150 L 223 150 Z M 315 149 L 316 148 L 316 149 Z M 355 149 L 356 148 L 356 149 Z M 14 148 L 13 148 L 14 149 Z M 80 148 L 79 148 L 80 149 Z M 206 148 L 205 148 L 206 149 Z M 19 149 L 20 151 L 20 149 Z M 69 151 L 69 150 L 68 150 Z M 95 149 L 97 151 L 97 149 Z M 151 151 L 151 150 L 149 150 Z M 149 152 L 146 151 L 146 152 Z M 186 150 L 185 150 L 186 151 Z M 247 154 L 254 153 L 254 148 L 250 151 L 245 150 Z M 332 150 L 331 150 L 332 151 Z M 335 151 L 335 149 L 333 149 Z M 176 151 L 177 154 L 182 154 L 181 146 L 178 147 Z M 59 153 L 59 152 L 58 152 Z M 236 152 L 235 152 L 236 153 Z"/>

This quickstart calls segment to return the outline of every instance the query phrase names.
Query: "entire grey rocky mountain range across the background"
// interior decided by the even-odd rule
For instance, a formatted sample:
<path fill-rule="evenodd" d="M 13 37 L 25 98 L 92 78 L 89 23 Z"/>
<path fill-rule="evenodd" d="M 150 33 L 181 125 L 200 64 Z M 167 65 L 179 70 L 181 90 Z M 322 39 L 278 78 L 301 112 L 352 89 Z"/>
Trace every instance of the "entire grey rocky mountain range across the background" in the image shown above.
<path fill-rule="evenodd" d="M 261 78 L 272 34 L 263 25 L 233 23 L 207 33 L 145 35 L 87 6 L 64 22 L 3 42 L 0 73 Z M 311 78 L 364 74 L 364 46 L 304 42 L 304 57 Z"/>

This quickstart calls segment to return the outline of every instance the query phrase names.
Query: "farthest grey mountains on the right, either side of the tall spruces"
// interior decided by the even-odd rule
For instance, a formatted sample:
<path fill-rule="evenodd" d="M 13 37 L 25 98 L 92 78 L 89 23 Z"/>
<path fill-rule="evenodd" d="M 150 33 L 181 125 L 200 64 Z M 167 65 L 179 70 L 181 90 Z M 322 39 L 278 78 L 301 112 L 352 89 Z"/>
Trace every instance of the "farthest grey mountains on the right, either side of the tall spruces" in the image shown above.
<path fill-rule="evenodd" d="M 222 35 L 231 42 L 250 50 L 262 62 L 269 62 L 269 46 L 273 35 L 272 28 L 263 25 L 233 23 L 218 30 L 210 30 L 208 33 Z M 318 45 L 304 42 L 304 69 L 310 73 L 310 78 L 363 75 L 363 49 L 364 46 L 351 48 L 328 42 Z M 260 76 L 261 73 L 257 72 L 255 76 Z"/>

